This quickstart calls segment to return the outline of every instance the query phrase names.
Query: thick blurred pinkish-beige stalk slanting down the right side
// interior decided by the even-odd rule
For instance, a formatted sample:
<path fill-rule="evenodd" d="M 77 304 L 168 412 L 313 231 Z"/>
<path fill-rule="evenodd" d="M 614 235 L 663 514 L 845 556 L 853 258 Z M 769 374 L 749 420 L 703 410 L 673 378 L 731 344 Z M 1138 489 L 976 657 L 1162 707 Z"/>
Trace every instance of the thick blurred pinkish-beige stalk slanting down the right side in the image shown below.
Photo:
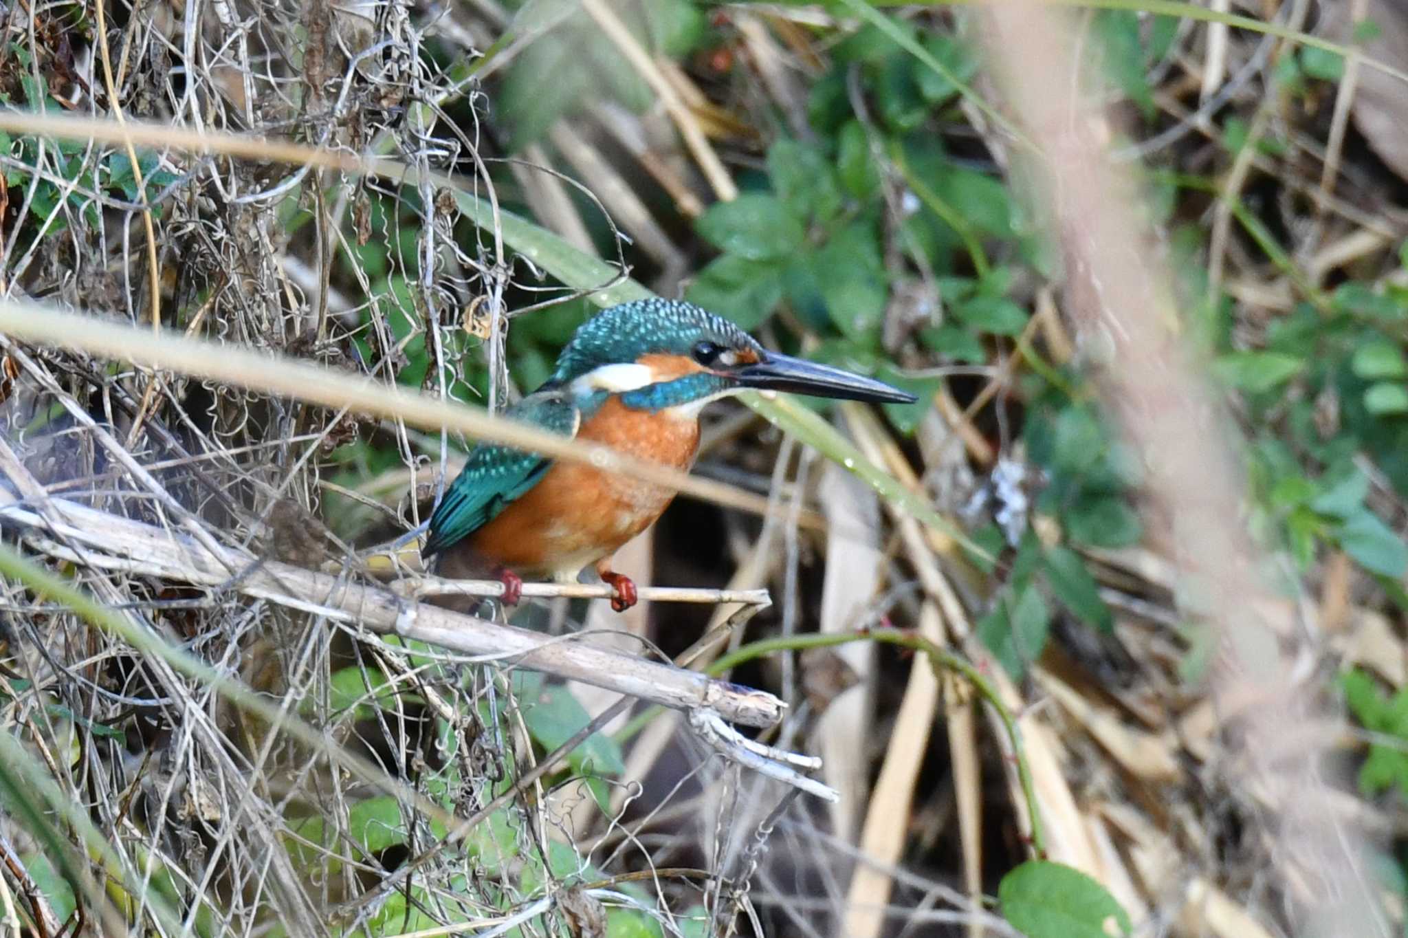
<path fill-rule="evenodd" d="M 1169 272 L 1152 261 L 1157 252 L 1136 217 L 1138 186 L 1107 151 L 1107 118 L 1076 97 L 1069 15 L 1041 3 L 991 3 L 983 25 L 1012 108 L 1043 145 L 1041 194 L 1070 276 L 1066 308 L 1081 345 L 1098 349 L 1097 383 L 1146 468 L 1149 528 L 1174 545 L 1181 586 L 1218 632 L 1215 690 L 1224 725 L 1239 738 L 1239 758 L 1224 763 L 1228 789 L 1267 799 L 1253 815 L 1266 820 L 1262 832 L 1305 934 L 1385 935 L 1364 834 L 1326 810 L 1329 753 L 1305 732 L 1335 725 L 1335 715 L 1302 686 L 1300 676 L 1312 672 L 1297 665 L 1291 607 L 1269 601 L 1259 575 L 1267 568 L 1243 528 L 1238 438 L 1178 339 Z"/>

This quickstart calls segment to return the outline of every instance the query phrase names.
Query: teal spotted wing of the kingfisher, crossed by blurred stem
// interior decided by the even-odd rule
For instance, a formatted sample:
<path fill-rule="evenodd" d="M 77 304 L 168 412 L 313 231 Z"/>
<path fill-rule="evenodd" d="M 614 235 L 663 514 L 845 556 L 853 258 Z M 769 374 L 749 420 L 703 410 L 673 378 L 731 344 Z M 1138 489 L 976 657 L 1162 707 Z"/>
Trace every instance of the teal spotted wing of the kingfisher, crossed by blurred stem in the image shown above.
<path fill-rule="evenodd" d="M 582 411 L 565 392 L 539 390 L 504 411 L 505 417 L 535 424 L 562 437 L 576 437 Z M 491 521 L 514 499 L 532 489 L 552 465 L 535 452 L 498 444 L 479 444 L 445 497 L 431 514 L 424 556 L 445 551 Z"/>

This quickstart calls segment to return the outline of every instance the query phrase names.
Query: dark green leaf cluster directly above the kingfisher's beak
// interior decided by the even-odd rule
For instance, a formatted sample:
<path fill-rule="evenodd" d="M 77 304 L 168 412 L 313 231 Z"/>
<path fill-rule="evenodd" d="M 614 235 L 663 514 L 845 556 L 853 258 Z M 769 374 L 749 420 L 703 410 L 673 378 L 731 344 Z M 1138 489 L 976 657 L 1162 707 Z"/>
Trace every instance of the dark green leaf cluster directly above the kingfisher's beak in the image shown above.
<path fill-rule="evenodd" d="M 786 310 L 794 330 L 819 339 L 814 358 L 912 390 L 917 404 L 886 407 L 911 432 L 939 384 L 900 362 L 984 363 L 986 342 L 1029 320 L 1008 293 L 1038 251 L 1007 186 L 943 142 L 977 69 L 972 46 L 898 28 L 932 62 L 874 27 L 842 39 L 808 100 L 810 138 L 774 141 L 763 170 L 742 177 L 743 194 L 698 218 L 698 234 L 721 254 L 686 299 L 750 330 Z M 908 355 L 883 337 L 897 297 L 912 307 Z"/>

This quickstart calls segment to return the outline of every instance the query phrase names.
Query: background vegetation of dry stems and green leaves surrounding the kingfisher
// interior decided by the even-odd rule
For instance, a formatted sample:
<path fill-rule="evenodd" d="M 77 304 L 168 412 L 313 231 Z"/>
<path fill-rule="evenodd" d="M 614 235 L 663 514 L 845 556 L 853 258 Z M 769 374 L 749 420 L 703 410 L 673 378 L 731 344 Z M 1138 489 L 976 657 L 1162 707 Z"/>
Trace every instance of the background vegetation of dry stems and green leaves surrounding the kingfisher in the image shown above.
<path fill-rule="evenodd" d="M 1071 93 L 1112 115 L 1140 251 L 1177 277 L 1166 325 L 1245 434 L 1228 521 L 1271 558 L 1301 692 L 1347 707 L 1326 732 L 1357 786 L 1324 810 L 1374 839 L 1374 899 L 1402 930 L 1408 94 L 1363 56 L 1408 69 L 1408 10 L 1242 6 L 1079 7 Z M 918 394 L 715 408 L 697 472 L 770 513 L 681 499 L 620 563 L 770 590 L 693 666 L 790 704 L 766 738 L 824 758 L 826 806 L 711 756 L 673 714 L 636 707 L 573 745 L 612 694 L 251 597 L 244 575 L 197 586 L 76 548 L 63 504 L 386 577 L 377 548 L 421 521 L 469 441 L 258 379 L 0 339 L 4 921 L 1300 934 L 1305 896 L 1270 872 L 1271 801 L 1229 783 L 1218 632 L 1177 576 L 1150 468 L 1101 407 L 1108 349 L 1071 330 L 1032 189 L 1042 141 L 993 56 L 983 14 L 942 4 L 0 0 L 7 117 L 404 169 L 21 120 L 0 132 L 3 300 L 493 410 L 596 307 L 655 292 Z M 735 608 L 600 606 L 514 621 L 677 656 Z M 873 641 L 822 646 L 852 638 Z M 1029 779 L 921 638 L 1017 714 Z"/>

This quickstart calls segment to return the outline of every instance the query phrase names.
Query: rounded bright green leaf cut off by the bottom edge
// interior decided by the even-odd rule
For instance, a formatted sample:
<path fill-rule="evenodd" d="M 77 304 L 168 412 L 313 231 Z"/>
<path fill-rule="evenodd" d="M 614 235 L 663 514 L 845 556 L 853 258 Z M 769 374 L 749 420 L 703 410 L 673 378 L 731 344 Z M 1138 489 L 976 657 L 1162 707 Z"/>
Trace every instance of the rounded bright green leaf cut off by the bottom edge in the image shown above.
<path fill-rule="evenodd" d="M 1026 938 L 1112 938 L 1133 927 L 1104 886 L 1049 861 L 1028 861 L 1008 872 L 997 899 L 1007 921 Z M 1111 920 L 1118 931 L 1108 930 Z"/>

